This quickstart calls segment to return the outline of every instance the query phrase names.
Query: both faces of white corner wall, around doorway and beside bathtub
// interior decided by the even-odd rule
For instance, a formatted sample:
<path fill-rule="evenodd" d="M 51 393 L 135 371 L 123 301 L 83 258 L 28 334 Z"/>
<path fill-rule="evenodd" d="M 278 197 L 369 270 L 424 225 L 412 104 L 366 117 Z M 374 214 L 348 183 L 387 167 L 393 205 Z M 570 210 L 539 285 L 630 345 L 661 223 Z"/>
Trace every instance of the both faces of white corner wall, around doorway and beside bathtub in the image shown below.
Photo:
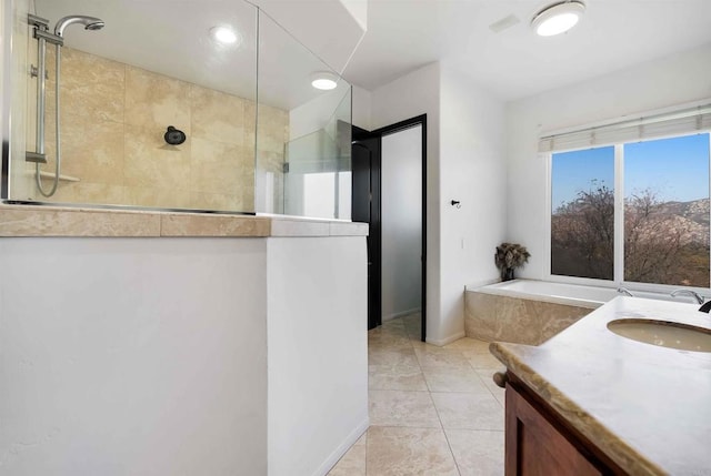
<path fill-rule="evenodd" d="M 443 345 L 464 335 L 464 286 L 498 276 L 493 253 L 507 223 L 504 104 L 439 63 L 379 88 L 371 100 L 372 129 L 428 114 L 427 341 Z"/>

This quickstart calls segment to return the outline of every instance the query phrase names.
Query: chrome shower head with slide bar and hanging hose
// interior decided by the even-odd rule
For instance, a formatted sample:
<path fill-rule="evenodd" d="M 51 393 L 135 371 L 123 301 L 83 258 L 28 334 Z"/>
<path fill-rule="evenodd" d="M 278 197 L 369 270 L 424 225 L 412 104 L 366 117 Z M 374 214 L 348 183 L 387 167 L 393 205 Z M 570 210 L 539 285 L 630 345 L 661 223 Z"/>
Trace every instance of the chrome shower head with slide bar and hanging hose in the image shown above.
<path fill-rule="evenodd" d="M 54 33 L 49 31 L 49 20 L 33 14 L 28 16 L 28 22 L 34 28 L 33 38 L 37 39 L 37 67 L 32 67 L 32 77 L 37 77 L 37 142 L 34 152 L 28 151 L 26 160 L 34 162 L 34 180 L 39 192 L 43 196 L 52 196 L 57 192 L 59 184 L 59 175 L 61 173 L 61 133 L 60 133 L 60 83 L 61 83 L 61 48 L 64 45 L 64 29 L 71 24 L 81 24 L 84 30 L 101 30 L 104 26 L 103 21 L 96 17 L 87 16 L 69 16 L 61 18 L 54 26 Z M 46 87 L 47 87 L 47 43 L 54 44 L 54 141 L 56 141 L 56 159 L 54 174 L 52 175 L 52 188 L 46 191 L 42 186 L 41 164 L 47 163 L 47 154 L 44 152 L 44 114 L 46 108 Z"/>

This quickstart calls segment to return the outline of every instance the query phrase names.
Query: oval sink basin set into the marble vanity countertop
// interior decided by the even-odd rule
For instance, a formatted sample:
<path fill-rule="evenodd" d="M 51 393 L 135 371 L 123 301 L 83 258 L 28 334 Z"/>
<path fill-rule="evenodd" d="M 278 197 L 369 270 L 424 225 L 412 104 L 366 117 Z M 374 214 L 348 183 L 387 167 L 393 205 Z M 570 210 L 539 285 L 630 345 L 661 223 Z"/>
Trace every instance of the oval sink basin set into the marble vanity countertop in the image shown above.
<path fill-rule="evenodd" d="M 711 330 L 669 321 L 622 318 L 608 323 L 622 337 L 681 351 L 711 352 Z"/>

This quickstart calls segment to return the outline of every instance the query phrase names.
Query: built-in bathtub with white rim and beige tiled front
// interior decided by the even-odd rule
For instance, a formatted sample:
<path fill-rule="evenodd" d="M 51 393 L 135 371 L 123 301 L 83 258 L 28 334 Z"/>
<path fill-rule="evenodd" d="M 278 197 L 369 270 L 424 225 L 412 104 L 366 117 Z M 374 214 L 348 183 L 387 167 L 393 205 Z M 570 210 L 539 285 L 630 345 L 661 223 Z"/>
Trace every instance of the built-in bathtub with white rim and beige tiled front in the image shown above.
<path fill-rule="evenodd" d="M 692 297 L 632 291 L 635 297 L 691 302 Z M 514 280 L 467 287 L 467 336 L 539 345 L 620 294 L 617 288 Z"/>

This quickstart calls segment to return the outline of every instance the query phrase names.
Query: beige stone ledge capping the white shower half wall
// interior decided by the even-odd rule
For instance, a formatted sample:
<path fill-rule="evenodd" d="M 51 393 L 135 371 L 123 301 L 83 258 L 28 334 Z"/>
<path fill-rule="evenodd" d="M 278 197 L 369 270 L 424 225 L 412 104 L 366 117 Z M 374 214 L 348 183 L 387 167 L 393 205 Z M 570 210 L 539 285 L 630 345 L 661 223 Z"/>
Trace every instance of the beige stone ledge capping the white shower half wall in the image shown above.
<path fill-rule="evenodd" d="M 10 236 L 365 236 L 367 223 L 281 215 L 230 215 L 123 209 L 0 204 Z"/>

